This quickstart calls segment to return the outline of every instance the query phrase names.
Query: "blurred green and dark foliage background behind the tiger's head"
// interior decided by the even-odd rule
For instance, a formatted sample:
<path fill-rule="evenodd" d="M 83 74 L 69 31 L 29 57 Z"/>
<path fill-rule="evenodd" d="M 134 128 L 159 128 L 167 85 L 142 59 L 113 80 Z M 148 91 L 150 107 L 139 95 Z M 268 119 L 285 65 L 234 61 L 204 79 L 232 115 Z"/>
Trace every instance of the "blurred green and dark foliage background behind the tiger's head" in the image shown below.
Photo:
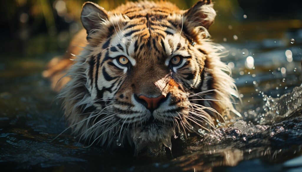
<path fill-rule="evenodd" d="M 125 0 L 91 0 L 111 10 Z M 198 0 L 169 0 L 188 9 Z M 302 27 L 298 5 L 275 0 L 212 0 L 217 17 L 210 27 L 215 42 L 243 42 L 248 39 L 281 38 L 286 29 Z M 85 0 L 9 0 L 0 8 L 1 54 L 39 55 L 63 52 L 72 36 L 82 28 L 80 14 Z M 274 4 L 274 8 L 267 5 Z M 247 17 L 243 17 L 247 15 Z M 253 34 L 257 33 L 257 34 Z M 233 39 L 234 35 L 236 38 Z M 18 51 L 11 52 L 10 49 Z"/>

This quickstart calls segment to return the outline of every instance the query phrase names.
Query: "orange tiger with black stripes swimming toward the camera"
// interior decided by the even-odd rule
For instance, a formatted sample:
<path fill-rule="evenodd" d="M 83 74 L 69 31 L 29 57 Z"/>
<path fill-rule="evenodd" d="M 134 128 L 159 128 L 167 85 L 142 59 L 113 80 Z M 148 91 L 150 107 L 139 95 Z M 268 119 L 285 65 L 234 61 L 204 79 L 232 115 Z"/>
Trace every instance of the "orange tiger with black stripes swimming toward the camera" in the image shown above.
<path fill-rule="evenodd" d="M 188 10 L 163 1 L 112 11 L 84 3 L 84 29 L 47 70 L 61 89 L 72 134 L 88 145 L 129 144 L 138 153 L 172 149 L 172 137 L 240 115 L 231 103 L 238 97 L 231 70 L 207 31 L 215 16 L 207 0 Z"/>

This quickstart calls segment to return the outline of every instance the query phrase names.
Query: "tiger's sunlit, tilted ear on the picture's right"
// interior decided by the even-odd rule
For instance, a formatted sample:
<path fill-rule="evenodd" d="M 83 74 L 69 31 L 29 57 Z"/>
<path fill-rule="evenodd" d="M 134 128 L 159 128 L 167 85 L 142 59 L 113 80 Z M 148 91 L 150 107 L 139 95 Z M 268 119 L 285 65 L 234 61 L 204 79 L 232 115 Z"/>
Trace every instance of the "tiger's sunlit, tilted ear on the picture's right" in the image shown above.
<path fill-rule="evenodd" d="M 213 23 L 215 16 L 211 0 L 201 0 L 184 13 L 186 22 L 193 24 L 193 27 L 203 26 L 206 29 Z"/>

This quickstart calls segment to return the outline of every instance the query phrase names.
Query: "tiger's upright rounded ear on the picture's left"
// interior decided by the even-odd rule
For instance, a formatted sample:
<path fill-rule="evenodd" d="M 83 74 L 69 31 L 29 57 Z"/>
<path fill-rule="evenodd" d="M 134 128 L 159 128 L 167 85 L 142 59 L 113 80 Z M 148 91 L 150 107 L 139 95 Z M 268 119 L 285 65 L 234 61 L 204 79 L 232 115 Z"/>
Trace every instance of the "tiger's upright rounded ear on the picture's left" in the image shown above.
<path fill-rule="evenodd" d="M 93 2 L 85 2 L 82 7 L 81 22 L 89 34 L 93 29 L 100 29 L 101 22 L 108 20 L 107 11 Z M 93 31 L 92 31 L 93 32 Z"/>

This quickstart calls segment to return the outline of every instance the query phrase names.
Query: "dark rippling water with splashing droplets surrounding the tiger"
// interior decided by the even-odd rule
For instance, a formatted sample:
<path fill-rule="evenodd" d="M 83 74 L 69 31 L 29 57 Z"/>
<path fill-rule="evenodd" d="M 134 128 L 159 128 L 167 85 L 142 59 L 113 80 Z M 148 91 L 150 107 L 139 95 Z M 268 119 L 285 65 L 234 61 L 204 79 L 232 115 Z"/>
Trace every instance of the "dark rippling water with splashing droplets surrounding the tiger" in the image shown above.
<path fill-rule="evenodd" d="M 187 142 L 172 147 L 172 155 L 166 149 L 166 155 L 159 157 L 85 148 L 69 132 L 50 142 L 66 128 L 56 93 L 41 76 L 54 54 L 43 55 L 43 60 L 6 58 L 0 63 L 1 169 L 302 171 L 300 40 L 302 30 L 294 30 L 282 39 L 222 43 L 230 50 L 223 61 L 233 67 L 243 118 L 201 136 L 188 136 Z"/>

